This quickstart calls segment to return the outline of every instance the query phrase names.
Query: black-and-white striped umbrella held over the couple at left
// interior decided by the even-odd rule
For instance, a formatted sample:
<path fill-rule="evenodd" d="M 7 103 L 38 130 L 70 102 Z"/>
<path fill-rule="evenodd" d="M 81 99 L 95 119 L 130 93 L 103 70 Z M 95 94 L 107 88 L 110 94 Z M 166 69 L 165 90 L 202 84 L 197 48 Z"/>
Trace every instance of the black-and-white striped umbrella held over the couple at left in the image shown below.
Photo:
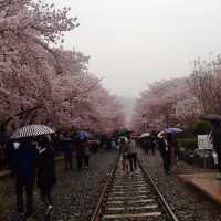
<path fill-rule="evenodd" d="M 19 128 L 12 136 L 11 139 L 19 139 L 24 137 L 36 137 L 40 135 L 50 135 L 54 130 L 44 125 L 28 125 Z"/>

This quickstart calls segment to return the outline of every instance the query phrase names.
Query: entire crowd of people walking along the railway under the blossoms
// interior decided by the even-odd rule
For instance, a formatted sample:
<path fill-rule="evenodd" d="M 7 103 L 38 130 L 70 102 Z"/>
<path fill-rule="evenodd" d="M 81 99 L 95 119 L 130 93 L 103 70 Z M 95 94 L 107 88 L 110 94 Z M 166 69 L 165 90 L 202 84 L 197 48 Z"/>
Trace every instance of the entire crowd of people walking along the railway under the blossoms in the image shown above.
<path fill-rule="evenodd" d="M 60 138 L 51 136 L 25 137 L 11 143 L 8 151 L 8 162 L 11 169 L 11 178 L 15 180 L 17 207 L 19 213 L 29 218 L 33 213 L 34 186 L 39 188 L 42 202 L 45 204 L 45 215 L 50 217 L 53 210 L 52 190 L 56 183 L 55 154 L 62 150 L 64 156 L 64 170 L 73 171 L 73 157 L 76 159 L 77 169 L 90 167 L 91 151 L 98 148 L 119 150 L 122 167 L 125 175 L 134 172 L 137 168 L 137 152 L 140 147 L 145 155 L 151 151 L 152 157 L 156 149 L 159 150 L 164 171 L 171 173 L 172 165 L 177 164 L 179 151 L 176 136 L 172 133 L 151 133 L 147 136 L 102 136 L 97 140 L 88 140 L 88 137 L 74 138 L 64 133 Z M 211 136 L 214 148 L 219 154 L 220 162 L 220 125 L 214 124 Z M 10 148 L 12 151 L 10 151 Z M 93 150 L 94 149 L 94 150 Z M 221 170 L 220 170 L 221 172 Z M 27 203 L 23 200 L 25 192 Z M 25 204 L 25 209 L 24 209 Z"/>

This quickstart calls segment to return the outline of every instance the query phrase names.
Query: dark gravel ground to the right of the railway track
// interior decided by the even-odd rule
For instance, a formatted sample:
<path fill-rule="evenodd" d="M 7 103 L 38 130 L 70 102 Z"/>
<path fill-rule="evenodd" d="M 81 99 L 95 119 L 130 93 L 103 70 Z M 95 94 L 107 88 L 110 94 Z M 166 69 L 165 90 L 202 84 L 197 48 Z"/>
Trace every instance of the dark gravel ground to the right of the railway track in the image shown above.
<path fill-rule="evenodd" d="M 173 167 L 172 173 L 168 176 L 164 172 L 159 152 L 152 156 L 139 149 L 138 156 L 179 221 L 221 221 L 221 206 L 213 203 L 177 178 L 179 173 L 202 172 L 206 171 L 204 169 L 179 161 Z"/>

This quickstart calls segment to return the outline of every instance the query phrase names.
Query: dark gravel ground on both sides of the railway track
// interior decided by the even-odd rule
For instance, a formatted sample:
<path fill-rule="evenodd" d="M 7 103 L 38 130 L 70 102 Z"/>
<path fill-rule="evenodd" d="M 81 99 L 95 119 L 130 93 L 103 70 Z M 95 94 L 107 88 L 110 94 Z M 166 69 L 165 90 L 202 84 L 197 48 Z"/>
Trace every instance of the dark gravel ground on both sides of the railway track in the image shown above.
<path fill-rule="evenodd" d="M 53 221 L 87 221 L 96 206 L 101 189 L 110 165 L 116 159 L 116 152 L 93 155 L 88 170 L 64 173 L 62 161 L 57 164 L 59 181 L 54 188 Z M 221 221 L 221 208 L 202 197 L 194 189 L 181 183 L 177 173 L 201 172 L 180 162 L 173 173 L 166 176 L 159 155 L 152 157 L 139 152 L 145 167 L 154 177 L 164 196 L 175 210 L 180 221 Z M 12 180 L 0 180 L 0 220 L 15 220 L 15 199 Z M 35 190 L 35 213 L 31 220 L 42 221 L 44 208 Z"/>

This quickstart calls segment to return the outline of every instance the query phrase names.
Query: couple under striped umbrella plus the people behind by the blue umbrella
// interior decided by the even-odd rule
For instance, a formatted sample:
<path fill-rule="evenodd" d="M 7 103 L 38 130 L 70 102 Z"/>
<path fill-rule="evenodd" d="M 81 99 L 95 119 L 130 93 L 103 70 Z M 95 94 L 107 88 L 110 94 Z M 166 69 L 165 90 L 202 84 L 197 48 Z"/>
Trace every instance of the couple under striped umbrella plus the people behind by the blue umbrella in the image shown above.
<path fill-rule="evenodd" d="M 50 217 L 53 210 L 52 190 L 56 183 L 55 155 L 57 149 L 63 152 L 65 171 L 73 171 L 74 154 L 78 170 L 90 166 L 87 137 L 75 139 L 63 134 L 59 143 L 51 136 L 25 137 L 11 141 L 9 148 L 11 149 L 9 151 L 9 168 L 11 178 L 15 182 L 17 207 L 20 215 L 24 218 L 29 218 L 33 213 L 35 186 L 39 188 L 42 202 L 45 206 L 45 217 Z"/>

